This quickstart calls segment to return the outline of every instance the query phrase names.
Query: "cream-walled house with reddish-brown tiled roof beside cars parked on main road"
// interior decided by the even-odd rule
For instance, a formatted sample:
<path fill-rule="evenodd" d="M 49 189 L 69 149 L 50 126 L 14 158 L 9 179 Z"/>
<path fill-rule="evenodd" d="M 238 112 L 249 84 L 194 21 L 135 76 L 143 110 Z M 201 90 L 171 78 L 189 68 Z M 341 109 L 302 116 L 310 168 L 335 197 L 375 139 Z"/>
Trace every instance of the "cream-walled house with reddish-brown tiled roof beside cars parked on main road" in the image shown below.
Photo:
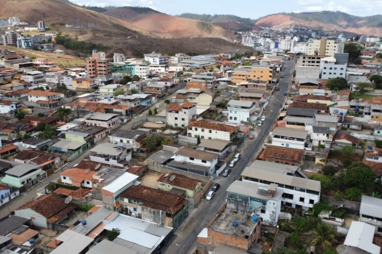
<path fill-rule="evenodd" d="M 157 178 L 158 190 L 174 193 L 184 192 L 184 196 L 194 198 L 202 190 L 202 182 L 176 173 L 162 173 Z"/>

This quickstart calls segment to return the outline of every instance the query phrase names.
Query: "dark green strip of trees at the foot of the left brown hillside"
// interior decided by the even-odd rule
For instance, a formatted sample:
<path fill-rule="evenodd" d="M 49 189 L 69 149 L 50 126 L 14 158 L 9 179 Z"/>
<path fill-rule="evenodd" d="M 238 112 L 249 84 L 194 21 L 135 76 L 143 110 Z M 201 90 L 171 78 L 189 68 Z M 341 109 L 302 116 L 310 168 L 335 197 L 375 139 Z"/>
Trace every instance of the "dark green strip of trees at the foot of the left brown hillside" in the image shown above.
<path fill-rule="evenodd" d="M 71 38 L 69 35 L 57 35 L 54 38 L 55 42 L 57 44 L 63 45 L 67 49 L 71 49 L 77 54 L 90 54 L 93 49 L 98 49 L 99 51 L 106 51 L 109 48 L 107 46 L 104 46 L 102 44 L 95 44 L 93 42 L 84 42 L 84 41 L 78 41 L 77 38 Z"/>

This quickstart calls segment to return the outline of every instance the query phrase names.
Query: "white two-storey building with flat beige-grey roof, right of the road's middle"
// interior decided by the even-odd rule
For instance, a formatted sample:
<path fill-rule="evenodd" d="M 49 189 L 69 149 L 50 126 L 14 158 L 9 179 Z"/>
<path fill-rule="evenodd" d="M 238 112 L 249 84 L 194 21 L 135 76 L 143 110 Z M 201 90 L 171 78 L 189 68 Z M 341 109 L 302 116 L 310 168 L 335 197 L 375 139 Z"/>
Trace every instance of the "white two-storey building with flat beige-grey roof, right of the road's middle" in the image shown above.
<path fill-rule="evenodd" d="M 272 146 L 311 150 L 308 130 L 276 127 L 271 134 Z"/>

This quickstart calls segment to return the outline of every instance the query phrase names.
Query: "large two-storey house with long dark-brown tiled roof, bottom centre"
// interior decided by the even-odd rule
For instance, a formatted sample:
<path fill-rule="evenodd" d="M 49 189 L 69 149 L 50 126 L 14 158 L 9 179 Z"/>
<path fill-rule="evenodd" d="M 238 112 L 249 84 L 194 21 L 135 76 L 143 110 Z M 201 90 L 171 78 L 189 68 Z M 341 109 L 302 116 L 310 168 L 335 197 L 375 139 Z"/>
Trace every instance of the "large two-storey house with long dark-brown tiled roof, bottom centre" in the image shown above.
<path fill-rule="evenodd" d="M 175 229 L 188 216 L 186 198 L 167 191 L 135 185 L 120 193 L 118 199 L 126 213 Z"/>

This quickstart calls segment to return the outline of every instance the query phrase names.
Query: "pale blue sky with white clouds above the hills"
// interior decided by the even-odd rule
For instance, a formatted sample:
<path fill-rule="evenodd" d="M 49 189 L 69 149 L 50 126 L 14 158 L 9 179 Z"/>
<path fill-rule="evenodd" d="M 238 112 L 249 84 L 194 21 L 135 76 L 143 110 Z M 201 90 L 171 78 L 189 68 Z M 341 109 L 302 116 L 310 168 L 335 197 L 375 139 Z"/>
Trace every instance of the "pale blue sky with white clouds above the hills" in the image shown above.
<path fill-rule="evenodd" d="M 343 11 L 357 16 L 382 14 L 382 0 L 72 0 L 92 6 L 145 6 L 170 15 L 231 14 L 257 19 L 279 12 Z"/>

